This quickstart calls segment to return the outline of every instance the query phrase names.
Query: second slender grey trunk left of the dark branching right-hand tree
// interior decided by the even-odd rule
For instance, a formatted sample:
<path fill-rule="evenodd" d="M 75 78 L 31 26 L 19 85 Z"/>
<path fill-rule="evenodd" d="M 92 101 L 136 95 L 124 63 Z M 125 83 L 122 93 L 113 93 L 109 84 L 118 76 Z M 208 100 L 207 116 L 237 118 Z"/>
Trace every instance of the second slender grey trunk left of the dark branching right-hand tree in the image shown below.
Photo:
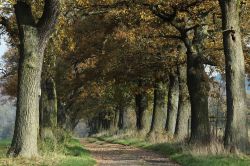
<path fill-rule="evenodd" d="M 176 71 L 169 76 L 168 109 L 166 130 L 174 135 L 179 103 L 179 81 Z"/>

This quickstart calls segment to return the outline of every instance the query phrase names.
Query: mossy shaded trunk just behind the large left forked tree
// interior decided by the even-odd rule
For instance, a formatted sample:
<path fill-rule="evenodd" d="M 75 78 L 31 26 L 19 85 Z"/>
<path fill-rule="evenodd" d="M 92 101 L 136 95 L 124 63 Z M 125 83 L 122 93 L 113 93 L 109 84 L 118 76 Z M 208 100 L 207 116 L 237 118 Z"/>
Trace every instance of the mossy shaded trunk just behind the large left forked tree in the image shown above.
<path fill-rule="evenodd" d="M 57 127 L 57 93 L 55 83 L 56 55 L 53 48 L 47 47 L 43 62 L 41 80 L 41 98 L 39 107 L 40 138 L 54 139 L 53 131 Z"/>

